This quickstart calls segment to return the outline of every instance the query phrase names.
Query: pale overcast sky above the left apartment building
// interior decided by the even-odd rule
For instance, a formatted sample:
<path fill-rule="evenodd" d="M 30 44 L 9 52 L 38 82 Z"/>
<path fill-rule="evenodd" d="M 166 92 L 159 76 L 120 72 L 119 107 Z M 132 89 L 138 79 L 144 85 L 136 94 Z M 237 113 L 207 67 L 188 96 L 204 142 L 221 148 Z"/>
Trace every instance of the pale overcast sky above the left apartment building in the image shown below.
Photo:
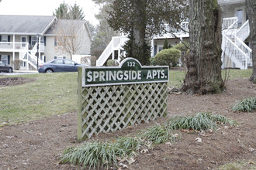
<path fill-rule="evenodd" d="M 53 15 L 62 2 L 76 2 L 83 9 L 85 20 L 94 26 L 99 24 L 94 16 L 99 8 L 92 0 L 0 0 L 0 15 Z"/>

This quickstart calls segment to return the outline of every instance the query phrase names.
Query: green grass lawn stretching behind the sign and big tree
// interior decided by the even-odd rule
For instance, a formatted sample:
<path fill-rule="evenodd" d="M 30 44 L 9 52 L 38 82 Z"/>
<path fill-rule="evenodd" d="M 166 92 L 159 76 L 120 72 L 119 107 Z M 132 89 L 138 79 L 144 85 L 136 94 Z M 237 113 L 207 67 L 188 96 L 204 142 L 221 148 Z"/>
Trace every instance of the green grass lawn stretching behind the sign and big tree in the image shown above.
<path fill-rule="evenodd" d="M 249 77 L 251 72 L 252 70 L 230 70 L 228 77 Z M 36 81 L 13 87 L 0 87 L 0 126 L 4 122 L 16 124 L 77 110 L 78 73 L 21 76 L 36 78 Z M 3 77 L 6 76 L 0 76 Z M 168 86 L 181 86 L 184 77 L 185 71 L 170 70 Z"/>

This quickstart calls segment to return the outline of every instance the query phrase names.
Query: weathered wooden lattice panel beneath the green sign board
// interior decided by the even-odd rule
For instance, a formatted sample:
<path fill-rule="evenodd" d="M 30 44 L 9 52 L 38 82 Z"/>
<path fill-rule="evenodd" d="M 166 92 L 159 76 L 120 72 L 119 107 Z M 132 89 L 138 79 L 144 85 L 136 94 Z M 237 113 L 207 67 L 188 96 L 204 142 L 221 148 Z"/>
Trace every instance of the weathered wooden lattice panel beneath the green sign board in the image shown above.
<path fill-rule="evenodd" d="M 167 83 L 82 87 L 81 140 L 165 116 L 167 89 Z"/>

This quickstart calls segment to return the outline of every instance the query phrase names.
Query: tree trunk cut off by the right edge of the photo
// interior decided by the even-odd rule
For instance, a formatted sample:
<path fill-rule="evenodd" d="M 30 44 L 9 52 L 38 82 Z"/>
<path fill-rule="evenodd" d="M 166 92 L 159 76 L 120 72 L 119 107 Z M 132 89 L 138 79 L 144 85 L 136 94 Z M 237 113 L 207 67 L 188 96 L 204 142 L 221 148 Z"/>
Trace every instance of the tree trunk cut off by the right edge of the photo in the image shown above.
<path fill-rule="evenodd" d="M 250 26 L 249 41 L 252 49 L 252 74 L 250 80 L 256 83 L 256 2 L 255 0 L 246 0 L 245 3 Z"/>

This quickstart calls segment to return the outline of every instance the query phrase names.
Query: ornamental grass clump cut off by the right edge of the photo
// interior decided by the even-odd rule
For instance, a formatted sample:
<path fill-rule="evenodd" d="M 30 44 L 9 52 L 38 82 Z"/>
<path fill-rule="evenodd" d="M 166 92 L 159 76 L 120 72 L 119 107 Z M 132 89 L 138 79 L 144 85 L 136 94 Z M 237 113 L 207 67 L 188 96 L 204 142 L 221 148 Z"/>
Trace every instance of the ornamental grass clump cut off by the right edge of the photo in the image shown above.
<path fill-rule="evenodd" d="M 256 110 L 256 97 L 248 97 L 243 100 L 238 100 L 232 107 L 232 110 L 244 112 Z"/>

